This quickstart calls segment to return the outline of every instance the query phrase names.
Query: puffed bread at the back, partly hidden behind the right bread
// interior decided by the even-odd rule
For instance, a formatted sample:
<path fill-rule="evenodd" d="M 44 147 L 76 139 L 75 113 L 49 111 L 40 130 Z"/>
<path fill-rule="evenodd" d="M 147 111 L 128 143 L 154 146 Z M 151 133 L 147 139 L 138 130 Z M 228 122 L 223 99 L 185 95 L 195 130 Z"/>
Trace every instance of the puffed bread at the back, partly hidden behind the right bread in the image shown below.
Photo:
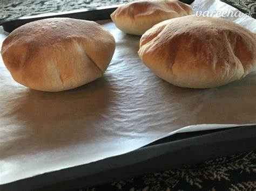
<path fill-rule="evenodd" d="M 139 1 L 119 6 L 110 16 L 121 31 L 142 35 L 163 20 L 191 14 L 191 6 L 179 1 Z"/>

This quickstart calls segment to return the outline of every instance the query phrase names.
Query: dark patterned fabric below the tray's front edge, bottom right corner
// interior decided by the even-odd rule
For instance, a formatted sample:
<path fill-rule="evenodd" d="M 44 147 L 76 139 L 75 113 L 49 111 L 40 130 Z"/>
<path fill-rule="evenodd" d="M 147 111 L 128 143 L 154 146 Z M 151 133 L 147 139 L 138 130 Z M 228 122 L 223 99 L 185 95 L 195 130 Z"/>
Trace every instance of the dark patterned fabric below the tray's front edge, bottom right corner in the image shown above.
<path fill-rule="evenodd" d="M 72 191 L 256 190 L 256 151 Z"/>

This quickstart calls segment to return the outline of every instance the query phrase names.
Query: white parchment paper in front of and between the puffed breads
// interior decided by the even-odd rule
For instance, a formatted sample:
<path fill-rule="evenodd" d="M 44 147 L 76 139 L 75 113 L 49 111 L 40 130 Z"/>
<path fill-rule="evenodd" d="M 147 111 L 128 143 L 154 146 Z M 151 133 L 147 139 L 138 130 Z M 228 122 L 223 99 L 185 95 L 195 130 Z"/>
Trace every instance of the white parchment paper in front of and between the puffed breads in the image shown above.
<path fill-rule="evenodd" d="M 103 26 L 114 35 L 116 52 L 102 78 L 79 88 L 25 88 L 1 60 L 0 184 L 123 154 L 186 126 L 256 123 L 256 72 L 219 88 L 175 87 L 139 60 L 139 37 L 111 22 Z"/>

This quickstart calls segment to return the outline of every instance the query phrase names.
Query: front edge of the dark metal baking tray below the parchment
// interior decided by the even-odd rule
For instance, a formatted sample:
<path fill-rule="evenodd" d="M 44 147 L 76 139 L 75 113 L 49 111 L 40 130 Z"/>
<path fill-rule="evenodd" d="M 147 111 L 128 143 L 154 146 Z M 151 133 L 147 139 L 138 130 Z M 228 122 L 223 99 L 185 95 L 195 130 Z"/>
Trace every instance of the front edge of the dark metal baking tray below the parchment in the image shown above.
<path fill-rule="evenodd" d="M 251 150 L 256 150 L 256 125 L 177 133 L 116 157 L 0 185 L 0 190 L 95 186 Z"/>

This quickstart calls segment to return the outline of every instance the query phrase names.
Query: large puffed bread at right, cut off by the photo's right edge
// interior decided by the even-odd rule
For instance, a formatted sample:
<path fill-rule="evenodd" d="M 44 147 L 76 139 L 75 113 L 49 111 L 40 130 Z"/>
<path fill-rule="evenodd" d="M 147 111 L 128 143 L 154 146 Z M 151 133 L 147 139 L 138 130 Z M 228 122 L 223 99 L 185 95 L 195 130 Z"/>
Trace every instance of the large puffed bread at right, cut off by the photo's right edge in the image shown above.
<path fill-rule="evenodd" d="M 165 20 L 143 34 L 139 56 L 176 86 L 212 88 L 256 68 L 256 34 L 231 21 L 195 15 Z"/>

